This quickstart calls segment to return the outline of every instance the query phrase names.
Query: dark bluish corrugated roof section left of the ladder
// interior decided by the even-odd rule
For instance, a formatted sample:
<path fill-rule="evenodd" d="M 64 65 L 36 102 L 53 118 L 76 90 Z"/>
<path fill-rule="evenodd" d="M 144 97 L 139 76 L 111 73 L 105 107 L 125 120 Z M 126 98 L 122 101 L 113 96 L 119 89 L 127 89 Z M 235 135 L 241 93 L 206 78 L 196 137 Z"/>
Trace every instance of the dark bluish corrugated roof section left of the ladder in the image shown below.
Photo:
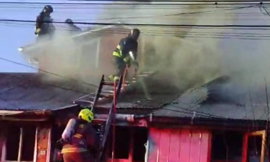
<path fill-rule="evenodd" d="M 74 81 L 48 81 L 42 73 L 0 73 L 1 110 L 57 109 L 87 91 Z"/>

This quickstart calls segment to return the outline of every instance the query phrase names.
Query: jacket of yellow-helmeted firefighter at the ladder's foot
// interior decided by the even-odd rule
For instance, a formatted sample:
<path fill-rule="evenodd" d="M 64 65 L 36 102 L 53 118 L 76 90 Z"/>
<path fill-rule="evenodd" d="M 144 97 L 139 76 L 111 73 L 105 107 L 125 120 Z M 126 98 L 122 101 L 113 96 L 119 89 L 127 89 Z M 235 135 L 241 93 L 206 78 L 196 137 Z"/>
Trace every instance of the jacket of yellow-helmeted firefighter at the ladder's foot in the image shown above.
<path fill-rule="evenodd" d="M 63 144 L 61 153 L 86 152 L 98 150 L 99 140 L 91 123 L 76 119 L 77 124 L 70 140 Z"/>

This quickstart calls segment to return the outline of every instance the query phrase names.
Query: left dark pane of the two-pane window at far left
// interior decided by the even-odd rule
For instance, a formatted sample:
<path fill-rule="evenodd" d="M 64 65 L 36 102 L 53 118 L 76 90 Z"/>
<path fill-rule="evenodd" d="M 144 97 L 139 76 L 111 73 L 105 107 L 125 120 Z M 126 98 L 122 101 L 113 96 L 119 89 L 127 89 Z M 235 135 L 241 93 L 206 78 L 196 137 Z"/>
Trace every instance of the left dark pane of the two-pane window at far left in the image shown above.
<path fill-rule="evenodd" d="M 6 139 L 6 160 L 18 160 L 20 134 L 21 130 L 19 127 L 12 126 L 8 128 L 8 134 Z"/>

